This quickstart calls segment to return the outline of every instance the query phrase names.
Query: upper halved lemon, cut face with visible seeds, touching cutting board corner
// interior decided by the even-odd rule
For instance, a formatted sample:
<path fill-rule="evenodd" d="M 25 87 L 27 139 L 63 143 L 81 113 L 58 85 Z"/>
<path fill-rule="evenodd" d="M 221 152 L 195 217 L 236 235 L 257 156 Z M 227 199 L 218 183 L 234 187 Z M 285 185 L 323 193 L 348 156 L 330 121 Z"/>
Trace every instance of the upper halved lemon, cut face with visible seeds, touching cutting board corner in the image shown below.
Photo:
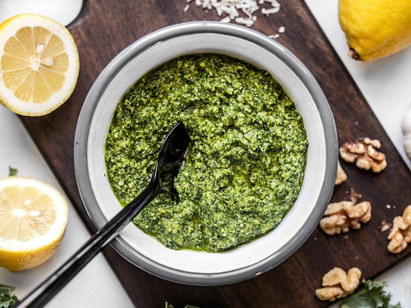
<path fill-rule="evenodd" d="M 50 18 L 15 15 L 0 24 L 0 103 L 22 115 L 44 115 L 70 97 L 79 76 L 70 32 Z"/>

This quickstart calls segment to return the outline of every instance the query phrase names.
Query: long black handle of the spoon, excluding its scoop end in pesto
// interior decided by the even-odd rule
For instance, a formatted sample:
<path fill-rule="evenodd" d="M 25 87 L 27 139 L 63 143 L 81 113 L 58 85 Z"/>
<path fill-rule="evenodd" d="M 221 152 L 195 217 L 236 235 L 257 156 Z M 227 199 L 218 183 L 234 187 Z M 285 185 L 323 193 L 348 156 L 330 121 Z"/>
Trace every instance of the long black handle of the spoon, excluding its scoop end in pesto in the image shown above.
<path fill-rule="evenodd" d="M 98 230 L 74 255 L 46 280 L 27 295 L 17 307 L 43 307 L 81 269 L 93 259 L 121 230 L 157 195 L 156 185 L 151 182 L 143 192 L 127 204 L 115 217 Z"/>

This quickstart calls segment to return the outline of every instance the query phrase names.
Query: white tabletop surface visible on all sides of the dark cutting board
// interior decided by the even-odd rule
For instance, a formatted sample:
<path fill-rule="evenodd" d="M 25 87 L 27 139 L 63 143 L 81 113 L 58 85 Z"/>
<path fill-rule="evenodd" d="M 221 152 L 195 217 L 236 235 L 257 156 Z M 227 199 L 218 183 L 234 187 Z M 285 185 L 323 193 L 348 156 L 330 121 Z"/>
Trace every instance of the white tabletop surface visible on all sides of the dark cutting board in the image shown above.
<path fill-rule="evenodd" d="M 82 0 L 0 0 L 0 22 L 23 12 L 41 13 L 69 24 L 78 14 Z M 346 56 L 347 47 L 337 19 L 337 0 L 306 0 L 324 32 L 357 82 L 365 98 L 383 124 L 389 137 L 405 158 L 402 149 L 400 122 L 411 102 L 411 48 L 372 63 L 358 63 Z M 286 35 L 286 34 L 284 34 Z M 409 161 L 407 161 L 410 166 Z M 15 114 L 0 106 L 0 178 L 7 176 L 8 166 L 18 168 L 19 175 L 48 182 L 60 190 L 39 150 Z M 67 232 L 58 252 L 45 264 L 10 273 L 0 269 L 0 282 L 17 286 L 16 294 L 24 296 L 53 268 L 78 248 L 89 234 L 70 205 Z M 411 307 L 411 259 L 378 278 L 389 283 L 393 302 Z M 102 255 L 93 260 L 48 305 L 49 307 L 132 307 L 121 284 Z"/>

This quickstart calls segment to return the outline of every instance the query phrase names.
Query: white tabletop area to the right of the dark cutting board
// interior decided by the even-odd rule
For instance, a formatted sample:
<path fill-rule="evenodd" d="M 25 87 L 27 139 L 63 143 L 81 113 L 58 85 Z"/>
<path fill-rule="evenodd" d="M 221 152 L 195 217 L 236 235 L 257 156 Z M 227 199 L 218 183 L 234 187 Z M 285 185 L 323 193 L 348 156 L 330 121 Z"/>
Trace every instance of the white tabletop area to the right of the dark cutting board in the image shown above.
<path fill-rule="evenodd" d="M 402 117 L 411 102 L 411 47 L 370 63 L 353 61 L 347 55 L 345 35 L 338 22 L 338 0 L 305 1 L 389 138 L 408 167 L 411 167 L 402 146 L 401 132 Z M 405 205 L 401 204 L 402 207 Z M 401 301 L 403 308 L 411 307 L 411 258 L 390 269 L 377 280 L 388 283 L 387 290 L 393 294 L 393 303 Z"/>

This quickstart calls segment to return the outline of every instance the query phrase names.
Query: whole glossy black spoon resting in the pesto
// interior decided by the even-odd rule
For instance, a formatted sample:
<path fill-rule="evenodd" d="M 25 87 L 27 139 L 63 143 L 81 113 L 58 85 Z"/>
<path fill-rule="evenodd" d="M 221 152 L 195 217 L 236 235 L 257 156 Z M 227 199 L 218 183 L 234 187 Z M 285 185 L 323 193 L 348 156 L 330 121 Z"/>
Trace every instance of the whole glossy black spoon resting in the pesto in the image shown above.
<path fill-rule="evenodd" d="M 127 204 L 113 219 L 98 230 L 57 271 L 18 303 L 17 307 L 43 307 L 160 192 L 178 196 L 174 188 L 174 179 L 183 164 L 189 143 L 190 137 L 184 125 L 177 123 L 164 139 L 153 177 L 140 196 Z"/>

